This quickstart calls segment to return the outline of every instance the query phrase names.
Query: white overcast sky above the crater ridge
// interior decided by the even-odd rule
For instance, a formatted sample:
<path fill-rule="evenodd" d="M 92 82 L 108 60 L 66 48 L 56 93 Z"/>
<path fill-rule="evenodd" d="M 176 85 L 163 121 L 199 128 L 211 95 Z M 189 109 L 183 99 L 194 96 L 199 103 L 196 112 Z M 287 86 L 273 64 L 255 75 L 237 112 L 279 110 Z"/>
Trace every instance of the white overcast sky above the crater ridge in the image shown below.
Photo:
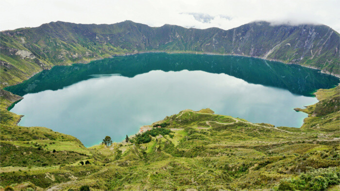
<path fill-rule="evenodd" d="M 340 0 L 0 0 L 0 31 L 58 20 L 226 30 L 266 20 L 325 24 L 340 32 L 339 10 Z"/>

